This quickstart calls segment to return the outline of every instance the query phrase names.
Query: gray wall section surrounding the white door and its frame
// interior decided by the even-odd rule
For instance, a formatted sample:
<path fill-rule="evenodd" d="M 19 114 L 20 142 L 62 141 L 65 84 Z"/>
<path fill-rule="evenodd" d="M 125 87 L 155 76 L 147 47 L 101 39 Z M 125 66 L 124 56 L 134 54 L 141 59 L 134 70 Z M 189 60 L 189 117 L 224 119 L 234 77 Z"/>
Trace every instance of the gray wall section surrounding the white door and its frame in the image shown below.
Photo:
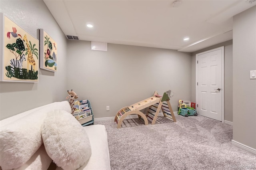
<path fill-rule="evenodd" d="M 192 101 L 196 102 L 196 54 L 201 53 L 210 49 L 224 46 L 224 120 L 233 122 L 233 87 L 232 87 L 232 77 L 233 77 L 233 45 L 232 40 L 223 42 L 200 51 L 192 53 L 191 59 L 191 77 L 192 77 L 192 86 L 191 86 L 191 96 Z"/>

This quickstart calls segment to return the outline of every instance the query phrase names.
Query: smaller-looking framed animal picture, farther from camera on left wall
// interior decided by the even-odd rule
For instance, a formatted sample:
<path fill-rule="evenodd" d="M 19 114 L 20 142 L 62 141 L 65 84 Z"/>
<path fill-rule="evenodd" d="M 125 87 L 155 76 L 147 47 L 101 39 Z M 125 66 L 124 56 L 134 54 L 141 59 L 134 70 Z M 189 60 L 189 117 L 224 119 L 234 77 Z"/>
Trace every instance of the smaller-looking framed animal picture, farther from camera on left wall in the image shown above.
<path fill-rule="evenodd" d="M 40 69 L 57 71 L 57 43 L 40 29 Z"/>

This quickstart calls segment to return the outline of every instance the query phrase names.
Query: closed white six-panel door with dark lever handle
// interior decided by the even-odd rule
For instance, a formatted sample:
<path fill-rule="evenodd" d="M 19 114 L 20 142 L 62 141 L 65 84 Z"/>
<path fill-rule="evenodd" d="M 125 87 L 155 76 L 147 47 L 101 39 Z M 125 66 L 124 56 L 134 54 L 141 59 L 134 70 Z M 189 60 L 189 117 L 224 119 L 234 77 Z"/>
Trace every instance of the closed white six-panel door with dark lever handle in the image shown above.
<path fill-rule="evenodd" d="M 224 47 L 198 53 L 196 59 L 197 112 L 224 121 Z"/>

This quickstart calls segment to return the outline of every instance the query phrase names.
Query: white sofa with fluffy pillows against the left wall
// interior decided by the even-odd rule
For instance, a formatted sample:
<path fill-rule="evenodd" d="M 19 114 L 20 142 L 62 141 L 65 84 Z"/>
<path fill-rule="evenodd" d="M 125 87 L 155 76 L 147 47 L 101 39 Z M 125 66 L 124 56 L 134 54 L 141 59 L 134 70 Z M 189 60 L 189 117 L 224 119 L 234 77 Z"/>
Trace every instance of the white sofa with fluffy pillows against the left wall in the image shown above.
<path fill-rule="evenodd" d="M 55 118 L 52 118 L 51 116 L 54 115 L 55 112 L 58 113 L 56 113 Z M 78 121 L 68 113 L 71 113 L 70 105 L 68 101 L 62 101 L 44 105 L 0 121 L 0 166 L 2 170 L 47 170 L 52 162 L 57 164 L 56 170 L 61 170 L 63 167 L 63 169 L 65 169 L 65 166 L 62 166 L 62 164 L 68 164 L 67 162 L 71 161 L 70 159 L 72 158 L 76 158 L 72 160 L 72 163 L 76 163 L 77 160 L 79 163 L 77 167 L 79 168 L 68 168 L 68 170 L 110 170 L 108 138 L 105 126 L 90 125 L 82 127 Z M 66 116 L 68 122 L 58 122 L 58 120 L 64 120 L 62 117 L 58 119 L 58 117 L 62 115 Z M 56 122 L 52 122 L 52 119 L 55 119 Z M 53 128 L 47 125 L 48 120 Z M 79 125 L 77 125 L 77 123 Z M 54 126 L 60 130 L 54 130 Z M 71 128 L 68 126 L 71 126 Z M 74 129 L 72 129 L 73 127 Z M 76 128 L 82 129 L 82 133 L 76 130 Z M 50 130 L 54 130 L 54 132 Z M 60 146 L 60 149 L 52 149 L 52 146 L 49 146 L 49 138 L 52 137 L 47 136 L 45 132 L 47 132 L 48 135 L 49 133 L 55 135 L 53 135 L 53 138 L 55 138 L 54 146 Z M 69 135 L 67 133 L 72 134 Z M 56 134 L 60 135 L 60 141 L 56 138 Z M 67 136 L 67 138 L 64 140 L 61 139 L 62 135 Z M 68 139 L 69 136 L 72 138 Z M 76 137 L 74 138 L 74 136 Z M 82 155 L 84 148 L 74 147 L 72 144 L 74 144 L 74 141 L 78 144 L 76 146 L 79 146 L 80 143 L 83 144 L 86 138 L 88 138 L 89 141 L 86 147 L 90 148 L 86 150 L 88 159 L 79 160 L 79 158 L 84 158 Z M 65 142 L 68 145 L 63 144 Z M 65 152 L 63 150 L 65 150 Z M 66 151 L 70 151 L 72 154 L 68 155 Z M 79 153 L 80 151 L 83 152 Z M 56 152 L 61 153 L 56 154 Z M 79 155 L 77 155 L 77 153 L 79 153 Z M 63 156 L 64 158 L 59 159 L 62 161 L 65 160 L 65 162 L 58 164 L 58 160 L 53 160 L 52 157 L 54 156 L 52 156 L 52 154 L 60 155 L 60 157 Z"/>

